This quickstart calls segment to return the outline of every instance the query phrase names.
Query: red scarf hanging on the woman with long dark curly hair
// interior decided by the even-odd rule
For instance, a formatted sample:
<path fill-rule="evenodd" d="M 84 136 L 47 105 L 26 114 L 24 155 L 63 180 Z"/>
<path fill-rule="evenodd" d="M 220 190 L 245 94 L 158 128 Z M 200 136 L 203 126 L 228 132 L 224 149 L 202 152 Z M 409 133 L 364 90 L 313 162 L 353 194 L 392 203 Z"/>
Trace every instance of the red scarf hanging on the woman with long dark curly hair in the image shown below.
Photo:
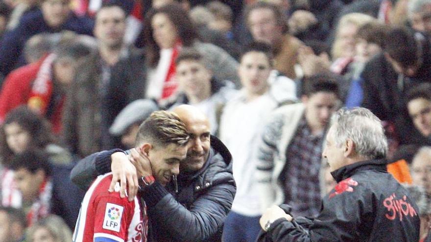
<path fill-rule="evenodd" d="M 175 76 L 176 72 L 175 59 L 177 58 L 178 53 L 181 51 L 181 47 L 181 41 L 177 41 L 177 43 L 173 46 L 168 73 L 166 74 L 165 82 L 163 84 L 162 96 L 160 98 L 161 100 L 169 98 L 176 92 L 178 88 L 178 82 L 173 77 Z"/>

